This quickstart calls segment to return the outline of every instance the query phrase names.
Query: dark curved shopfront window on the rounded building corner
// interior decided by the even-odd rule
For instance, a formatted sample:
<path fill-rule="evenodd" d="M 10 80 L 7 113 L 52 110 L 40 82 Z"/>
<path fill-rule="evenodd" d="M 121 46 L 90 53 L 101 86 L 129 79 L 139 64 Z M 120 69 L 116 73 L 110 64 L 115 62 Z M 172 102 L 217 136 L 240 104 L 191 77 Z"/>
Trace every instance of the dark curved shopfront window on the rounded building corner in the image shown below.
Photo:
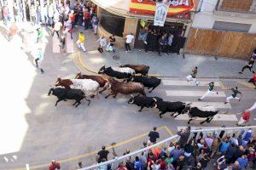
<path fill-rule="evenodd" d="M 102 9 L 101 25 L 104 30 L 108 31 L 111 34 L 114 34 L 119 37 L 123 37 L 125 18 L 117 16 L 111 13 L 108 13 L 107 10 Z"/>

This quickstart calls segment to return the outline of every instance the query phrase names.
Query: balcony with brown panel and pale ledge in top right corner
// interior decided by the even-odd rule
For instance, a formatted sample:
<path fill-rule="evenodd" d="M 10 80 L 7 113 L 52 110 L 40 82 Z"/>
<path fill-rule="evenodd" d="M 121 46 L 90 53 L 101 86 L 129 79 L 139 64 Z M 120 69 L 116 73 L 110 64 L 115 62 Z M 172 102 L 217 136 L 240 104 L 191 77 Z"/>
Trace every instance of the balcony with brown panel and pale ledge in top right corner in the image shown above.
<path fill-rule="evenodd" d="M 218 0 L 214 14 L 256 18 L 256 0 Z"/>

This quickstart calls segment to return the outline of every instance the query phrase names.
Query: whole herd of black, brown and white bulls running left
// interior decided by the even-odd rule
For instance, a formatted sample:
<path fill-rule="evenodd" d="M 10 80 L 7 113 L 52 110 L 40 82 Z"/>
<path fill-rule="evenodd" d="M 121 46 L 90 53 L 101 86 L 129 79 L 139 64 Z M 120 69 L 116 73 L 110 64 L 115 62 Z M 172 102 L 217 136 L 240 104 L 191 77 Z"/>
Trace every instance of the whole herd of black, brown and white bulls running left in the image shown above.
<path fill-rule="evenodd" d="M 151 93 L 161 82 L 159 78 L 148 77 L 148 70 L 149 66 L 147 65 L 120 65 L 119 67 L 107 68 L 103 65 L 98 73 L 105 74 L 108 78 L 82 75 L 81 73 L 78 73 L 74 79 L 61 79 L 61 77 L 58 77 L 55 87 L 61 86 L 64 88 L 50 88 L 48 95 L 53 94 L 58 98 L 55 105 L 61 100 L 73 99 L 75 100 L 73 105 L 77 104 L 77 107 L 81 104 L 82 99 L 86 99 L 86 97 L 98 97 L 98 94 L 101 94 L 105 90 L 111 91 L 105 97 L 106 99 L 110 95 L 113 95 L 113 98 L 115 98 L 117 94 L 138 94 L 135 97 L 131 95 L 132 97 L 128 100 L 128 103 L 140 106 L 141 109 L 139 111 L 142 111 L 144 107 L 157 108 L 160 111 L 160 118 L 166 112 L 172 112 L 172 116 L 175 113 L 177 113 L 176 116 L 188 113 L 190 117 L 189 122 L 196 117 L 206 118 L 203 122 L 211 122 L 213 116 L 218 113 L 218 110 L 212 106 L 196 107 L 192 106 L 191 103 L 185 104 L 180 101 L 169 102 L 159 97 L 147 97 L 144 87 L 148 89 L 152 88 L 148 92 Z M 135 74 L 141 74 L 141 76 L 135 76 Z M 123 79 L 123 82 L 119 82 L 113 77 Z M 90 99 L 86 100 L 88 101 L 88 105 L 90 105 Z"/>

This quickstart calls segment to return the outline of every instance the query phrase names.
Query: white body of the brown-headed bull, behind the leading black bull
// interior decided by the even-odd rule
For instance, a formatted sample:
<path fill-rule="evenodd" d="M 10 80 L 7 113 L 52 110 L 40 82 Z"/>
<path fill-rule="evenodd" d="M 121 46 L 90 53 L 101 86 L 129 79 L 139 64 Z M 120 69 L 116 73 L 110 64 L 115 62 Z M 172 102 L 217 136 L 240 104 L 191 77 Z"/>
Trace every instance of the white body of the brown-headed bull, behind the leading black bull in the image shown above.
<path fill-rule="evenodd" d="M 84 92 L 85 96 L 98 96 L 100 84 L 90 79 L 70 79 L 73 84 L 70 88 L 80 89 Z"/>

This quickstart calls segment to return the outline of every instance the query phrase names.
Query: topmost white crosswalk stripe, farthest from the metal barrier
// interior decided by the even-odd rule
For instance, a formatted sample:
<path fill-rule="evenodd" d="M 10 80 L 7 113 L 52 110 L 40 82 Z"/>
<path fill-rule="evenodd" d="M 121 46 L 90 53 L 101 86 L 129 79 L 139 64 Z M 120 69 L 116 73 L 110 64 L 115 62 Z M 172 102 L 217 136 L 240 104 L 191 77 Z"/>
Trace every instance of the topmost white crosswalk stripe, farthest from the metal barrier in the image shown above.
<path fill-rule="evenodd" d="M 165 86 L 195 86 L 195 82 L 187 82 L 187 81 L 182 81 L 182 80 L 167 80 L 167 79 L 164 79 L 162 80 L 163 84 Z M 211 81 L 200 81 L 200 84 L 199 86 L 204 86 L 206 84 L 208 84 L 209 82 Z M 216 87 L 219 87 L 220 84 L 218 82 L 214 82 L 214 85 Z M 208 86 L 206 85 L 206 88 Z"/>

